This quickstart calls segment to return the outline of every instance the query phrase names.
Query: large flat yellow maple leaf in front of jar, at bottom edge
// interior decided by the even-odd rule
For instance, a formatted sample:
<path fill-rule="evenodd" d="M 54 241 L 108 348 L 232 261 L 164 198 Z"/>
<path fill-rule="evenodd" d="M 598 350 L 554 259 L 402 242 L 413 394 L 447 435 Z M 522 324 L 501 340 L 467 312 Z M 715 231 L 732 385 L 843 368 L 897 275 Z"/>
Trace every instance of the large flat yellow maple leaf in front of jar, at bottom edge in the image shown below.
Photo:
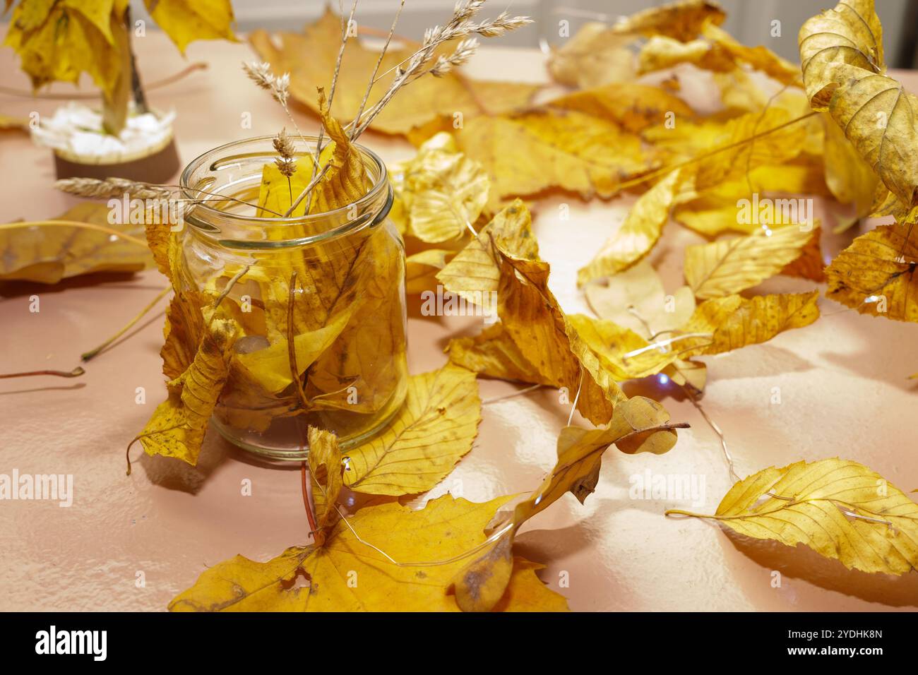
<path fill-rule="evenodd" d="M 460 558 L 486 542 L 484 530 L 510 498 L 476 504 L 443 495 L 424 509 L 397 503 L 367 506 L 336 523 L 325 546 L 294 546 L 260 563 L 237 556 L 204 571 L 169 603 L 173 612 L 458 612 L 451 586 Z M 396 565 L 378 549 L 403 565 Z M 404 563 L 412 563 L 404 565 Z M 565 599 L 535 576 L 541 568 L 512 561 L 495 609 L 566 611 Z M 297 583 L 304 579 L 308 585 Z"/>

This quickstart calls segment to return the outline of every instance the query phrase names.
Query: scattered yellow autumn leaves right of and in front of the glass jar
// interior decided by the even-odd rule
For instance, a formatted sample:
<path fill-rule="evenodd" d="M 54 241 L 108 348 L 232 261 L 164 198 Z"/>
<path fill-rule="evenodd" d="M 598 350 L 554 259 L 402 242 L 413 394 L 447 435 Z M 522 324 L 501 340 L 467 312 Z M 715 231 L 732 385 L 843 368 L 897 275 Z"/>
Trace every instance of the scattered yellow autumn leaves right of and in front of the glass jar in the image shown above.
<path fill-rule="evenodd" d="M 699 357 L 763 343 L 816 321 L 818 290 L 755 294 L 776 275 L 827 280 L 830 298 L 862 312 L 918 321 L 909 215 L 914 164 L 913 153 L 904 150 L 914 145 L 913 97 L 882 75 L 872 3 L 842 4 L 804 25 L 802 70 L 764 47 L 740 44 L 720 28 L 723 18 L 711 2 L 684 0 L 613 25 L 588 24 L 549 62 L 554 78 L 577 91 L 537 106 L 479 107 L 450 134 L 432 135 L 442 129 L 439 122 L 406 114 L 401 124 L 380 127 L 406 133 L 419 146 L 393 172 L 393 215 L 411 253 L 409 292 L 439 285 L 479 303 L 496 293 L 499 321 L 454 338 L 446 349 L 449 365 L 413 377 L 396 421 L 341 457 L 342 471 L 335 464 L 337 446 L 320 446 L 317 461 L 326 464 L 314 469 L 320 478 L 313 490 L 321 493 L 323 524 L 314 546 L 288 549 L 268 563 L 242 557 L 223 563 L 177 597 L 173 609 L 364 610 L 397 597 L 406 609 L 490 611 L 523 609 L 522 597 L 529 594 L 530 607 L 563 608 L 534 579 L 532 563 L 514 555 L 518 530 L 565 492 L 584 501 L 610 444 L 628 453 L 665 453 L 676 442 L 675 429 L 684 426 L 670 423 L 652 399 L 629 399 L 623 381 L 665 375 L 700 395 L 707 367 Z M 329 25 L 321 28 L 322 22 Z M 325 17 L 308 28 L 308 38 L 320 39 L 338 26 Z M 294 53 L 268 54 L 274 48 L 263 38 L 255 41 L 274 60 Z M 638 73 L 684 64 L 711 73 L 721 87 L 722 112 L 696 113 L 673 93 L 678 87 L 671 80 L 661 86 L 634 81 Z M 750 70 L 783 90 L 769 98 Z M 317 77 L 309 73 L 302 82 Z M 354 107 L 347 96 L 356 92 L 342 97 L 341 110 Z M 829 115 L 817 117 L 810 106 Z M 883 114 L 884 124 L 862 121 L 875 113 Z M 549 288 L 550 267 L 539 255 L 520 197 L 550 191 L 612 197 L 623 188 L 640 194 L 577 276 L 596 316 L 567 314 Z M 854 219 L 837 231 L 870 212 L 901 220 L 862 235 L 823 271 L 823 229 L 789 196 L 829 194 L 854 208 Z M 648 256 L 670 219 L 710 241 L 686 249 L 685 285 L 667 294 Z M 722 236 L 728 232 L 734 236 Z M 342 515 L 351 527 L 330 524 L 325 500 L 341 484 L 396 497 L 431 489 L 448 474 L 471 448 L 480 420 L 475 391 L 460 387 L 474 383 L 473 373 L 576 393 L 567 402 L 596 426 L 562 430 L 556 466 L 525 499 L 474 505 L 443 497 L 419 512 L 373 505 Z M 484 533 L 490 516 L 506 504 L 512 509 Z M 431 533 L 441 535 L 436 523 L 447 510 L 462 513 L 458 519 L 482 512 L 469 521 L 471 529 L 451 528 L 451 534 L 468 535 L 463 546 L 451 539 L 403 545 L 402 534 L 376 524 L 414 532 L 413 523 L 430 523 Z M 745 478 L 710 517 L 741 534 L 806 544 L 849 568 L 901 574 L 918 558 L 916 511 L 913 501 L 866 467 L 826 459 Z M 357 557 L 372 559 L 385 578 L 374 577 L 364 591 L 338 591 L 341 569 L 357 579 L 364 574 Z M 432 565 L 443 559 L 450 563 Z M 306 579 L 302 588 L 297 577 Z M 430 595 L 419 603 L 421 592 Z"/>

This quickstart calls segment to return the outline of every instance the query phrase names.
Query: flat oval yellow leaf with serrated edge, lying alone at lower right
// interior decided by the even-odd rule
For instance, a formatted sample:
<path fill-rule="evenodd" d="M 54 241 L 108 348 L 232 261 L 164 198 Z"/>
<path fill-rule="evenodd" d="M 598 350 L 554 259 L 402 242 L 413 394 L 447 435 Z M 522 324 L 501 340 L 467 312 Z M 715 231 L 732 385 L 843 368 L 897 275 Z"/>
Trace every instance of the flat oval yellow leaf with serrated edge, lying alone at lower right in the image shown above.
<path fill-rule="evenodd" d="M 734 532 L 803 544 L 848 569 L 905 574 L 918 568 L 918 504 L 850 460 L 768 467 L 733 485 L 712 518 Z"/>

